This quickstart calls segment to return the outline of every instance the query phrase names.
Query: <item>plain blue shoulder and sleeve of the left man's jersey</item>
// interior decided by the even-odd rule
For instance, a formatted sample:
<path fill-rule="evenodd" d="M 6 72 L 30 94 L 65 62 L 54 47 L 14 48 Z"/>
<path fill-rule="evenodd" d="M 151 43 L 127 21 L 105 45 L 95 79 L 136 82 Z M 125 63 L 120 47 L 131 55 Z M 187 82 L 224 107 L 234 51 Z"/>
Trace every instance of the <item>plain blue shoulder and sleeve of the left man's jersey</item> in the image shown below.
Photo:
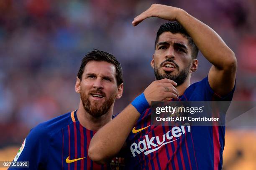
<path fill-rule="evenodd" d="M 34 127 L 24 140 L 14 161 L 30 161 L 31 169 L 38 169 L 40 163 L 47 162 L 47 155 L 53 134 L 72 122 L 68 112 Z"/>

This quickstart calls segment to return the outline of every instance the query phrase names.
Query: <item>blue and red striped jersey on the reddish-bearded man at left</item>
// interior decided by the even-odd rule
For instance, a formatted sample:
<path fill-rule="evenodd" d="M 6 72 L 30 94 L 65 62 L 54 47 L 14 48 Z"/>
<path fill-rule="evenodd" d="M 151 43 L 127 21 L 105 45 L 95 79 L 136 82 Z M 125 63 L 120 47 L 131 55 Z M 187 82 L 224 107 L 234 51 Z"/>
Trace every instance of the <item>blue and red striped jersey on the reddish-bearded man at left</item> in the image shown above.
<path fill-rule="evenodd" d="M 88 148 L 95 133 L 79 123 L 76 111 L 69 112 L 33 128 L 14 161 L 29 161 L 29 168 L 24 169 L 31 170 L 123 169 L 123 158 L 114 158 L 105 165 L 90 160 Z"/>

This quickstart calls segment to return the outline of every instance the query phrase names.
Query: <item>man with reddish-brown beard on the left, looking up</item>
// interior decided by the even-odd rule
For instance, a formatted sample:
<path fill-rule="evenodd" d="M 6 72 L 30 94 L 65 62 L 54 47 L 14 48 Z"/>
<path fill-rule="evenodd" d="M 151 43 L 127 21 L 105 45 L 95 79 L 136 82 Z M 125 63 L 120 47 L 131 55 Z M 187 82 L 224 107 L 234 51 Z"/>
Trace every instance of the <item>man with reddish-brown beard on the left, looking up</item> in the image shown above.
<path fill-rule="evenodd" d="M 78 110 L 33 128 L 14 162 L 28 161 L 25 169 L 31 170 L 95 170 L 115 166 L 113 161 L 96 164 L 88 157 L 88 148 L 97 130 L 112 120 L 115 99 L 123 94 L 123 73 L 118 60 L 100 50 L 89 52 L 78 71 L 75 91 L 80 94 Z"/>

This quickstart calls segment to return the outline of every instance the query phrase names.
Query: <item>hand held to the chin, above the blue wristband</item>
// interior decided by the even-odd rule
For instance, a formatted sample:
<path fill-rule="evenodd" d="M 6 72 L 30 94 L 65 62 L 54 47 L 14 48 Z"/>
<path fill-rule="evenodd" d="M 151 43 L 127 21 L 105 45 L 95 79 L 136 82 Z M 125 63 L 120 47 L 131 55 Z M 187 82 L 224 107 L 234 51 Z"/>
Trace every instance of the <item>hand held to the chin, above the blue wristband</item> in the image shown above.
<path fill-rule="evenodd" d="M 144 91 L 149 105 L 151 105 L 151 101 L 178 99 L 179 92 L 174 86 L 177 86 L 177 83 L 167 78 L 152 82 Z"/>

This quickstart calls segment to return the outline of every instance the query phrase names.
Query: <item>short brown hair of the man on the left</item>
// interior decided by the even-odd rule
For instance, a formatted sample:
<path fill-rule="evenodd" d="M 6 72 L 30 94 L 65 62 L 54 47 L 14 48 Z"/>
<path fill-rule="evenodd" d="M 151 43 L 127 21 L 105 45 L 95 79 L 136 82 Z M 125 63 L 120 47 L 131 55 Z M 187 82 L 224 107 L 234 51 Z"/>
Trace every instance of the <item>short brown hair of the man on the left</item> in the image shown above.
<path fill-rule="evenodd" d="M 77 77 L 80 80 L 82 80 L 84 67 L 89 61 L 106 61 L 115 65 L 115 72 L 116 72 L 115 78 L 116 78 L 117 85 L 120 85 L 121 83 L 123 83 L 123 71 L 118 60 L 116 60 L 116 58 L 113 55 L 109 54 L 108 52 L 100 51 L 97 49 L 93 49 L 93 51 L 88 52 L 87 55 L 85 55 L 84 58 L 82 59 L 80 69 L 77 73 Z"/>

